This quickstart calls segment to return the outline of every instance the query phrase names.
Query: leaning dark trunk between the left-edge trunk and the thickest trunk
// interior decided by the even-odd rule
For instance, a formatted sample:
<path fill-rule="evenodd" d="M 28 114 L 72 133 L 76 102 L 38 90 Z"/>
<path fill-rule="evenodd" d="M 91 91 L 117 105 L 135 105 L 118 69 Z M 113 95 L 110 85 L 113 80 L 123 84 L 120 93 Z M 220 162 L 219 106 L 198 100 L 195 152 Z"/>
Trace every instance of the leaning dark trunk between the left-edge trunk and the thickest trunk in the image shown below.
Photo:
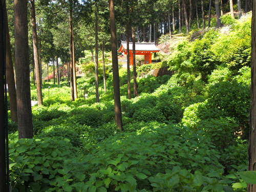
<path fill-rule="evenodd" d="M 6 80 L 8 83 L 8 92 L 9 92 L 9 102 L 11 110 L 11 119 L 12 121 L 17 122 L 17 101 L 16 101 L 16 88 L 13 72 L 13 62 L 12 62 L 12 53 L 11 53 L 11 44 L 10 44 L 10 35 L 9 27 L 7 20 L 7 11 L 5 9 L 5 26 L 6 26 Z M 35 81 L 34 81 L 35 85 Z"/>

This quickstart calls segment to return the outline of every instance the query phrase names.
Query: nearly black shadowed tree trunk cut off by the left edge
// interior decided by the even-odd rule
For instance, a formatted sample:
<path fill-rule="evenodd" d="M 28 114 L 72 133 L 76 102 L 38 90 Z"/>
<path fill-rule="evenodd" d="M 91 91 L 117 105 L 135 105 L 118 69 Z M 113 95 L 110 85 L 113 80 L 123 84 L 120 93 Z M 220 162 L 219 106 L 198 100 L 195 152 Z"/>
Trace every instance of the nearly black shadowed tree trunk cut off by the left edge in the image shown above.
<path fill-rule="evenodd" d="M 5 94 L 4 94 L 4 71 L 5 71 L 5 48 L 4 48 L 4 1 L 0 1 L 0 191 L 7 191 L 7 174 L 6 174 L 6 145 L 5 145 Z"/>

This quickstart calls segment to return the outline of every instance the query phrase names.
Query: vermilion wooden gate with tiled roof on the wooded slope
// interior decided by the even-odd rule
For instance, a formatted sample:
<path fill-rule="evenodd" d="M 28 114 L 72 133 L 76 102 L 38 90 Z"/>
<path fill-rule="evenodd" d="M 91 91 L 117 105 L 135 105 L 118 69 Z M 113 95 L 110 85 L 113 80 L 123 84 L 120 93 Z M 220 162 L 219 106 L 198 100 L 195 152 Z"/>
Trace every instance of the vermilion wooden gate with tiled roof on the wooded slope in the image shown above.
<path fill-rule="evenodd" d="M 130 52 L 130 65 L 133 66 L 133 42 L 129 42 Z M 144 55 L 144 64 L 152 63 L 152 53 L 159 52 L 155 45 L 155 42 L 136 42 L 135 43 L 135 55 Z M 127 42 L 122 41 L 118 50 L 119 53 L 127 55 Z"/>

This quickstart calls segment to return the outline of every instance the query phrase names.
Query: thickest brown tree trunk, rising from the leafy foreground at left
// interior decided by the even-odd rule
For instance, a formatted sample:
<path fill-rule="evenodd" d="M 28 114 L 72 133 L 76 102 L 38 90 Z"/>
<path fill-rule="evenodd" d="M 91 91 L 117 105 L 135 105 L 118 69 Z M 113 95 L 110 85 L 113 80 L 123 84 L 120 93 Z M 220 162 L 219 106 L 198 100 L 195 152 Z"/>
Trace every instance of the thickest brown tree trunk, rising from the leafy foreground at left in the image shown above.
<path fill-rule="evenodd" d="M 14 0 L 18 138 L 32 138 L 27 1 Z"/>

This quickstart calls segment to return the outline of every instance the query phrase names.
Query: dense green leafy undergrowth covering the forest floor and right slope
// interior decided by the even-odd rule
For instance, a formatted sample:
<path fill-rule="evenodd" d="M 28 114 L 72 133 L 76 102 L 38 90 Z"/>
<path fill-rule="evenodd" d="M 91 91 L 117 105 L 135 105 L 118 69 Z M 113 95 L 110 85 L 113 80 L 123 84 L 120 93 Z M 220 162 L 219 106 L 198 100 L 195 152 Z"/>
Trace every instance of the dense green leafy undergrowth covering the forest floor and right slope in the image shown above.
<path fill-rule="evenodd" d="M 90 78 L 77 79 L 74 102 L 66 82 L 45 83 L 34 138 L 18 140 L 9 124 L 12 191 L 246 191 L 250 16 L 222 23 L 178 45 L 167 60 L 172 77 L 138 78 L 136 98 L 126 98 L 120 70 L 124 132 L 111 73 L 100 103 Z"/>

